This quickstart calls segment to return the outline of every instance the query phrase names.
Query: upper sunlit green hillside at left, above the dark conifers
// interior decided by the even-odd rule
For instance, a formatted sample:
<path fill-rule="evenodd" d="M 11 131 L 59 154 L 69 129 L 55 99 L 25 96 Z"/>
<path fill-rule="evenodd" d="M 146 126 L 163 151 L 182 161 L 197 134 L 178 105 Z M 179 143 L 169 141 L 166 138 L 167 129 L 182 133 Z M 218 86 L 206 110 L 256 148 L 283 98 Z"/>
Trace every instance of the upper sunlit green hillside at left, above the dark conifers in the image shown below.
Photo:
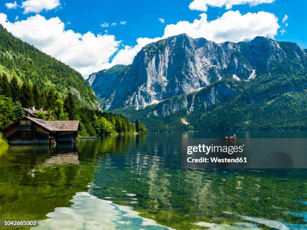
<path fill-rule="evenodd" d="M 96 98 L 80 73 L 12 36 L 0 25 L 0 72 L 19 82 L 36 83 L 39 89 L 54 88 L 60 97 L 71 91 L 83 105 L 93 108 Z"/>

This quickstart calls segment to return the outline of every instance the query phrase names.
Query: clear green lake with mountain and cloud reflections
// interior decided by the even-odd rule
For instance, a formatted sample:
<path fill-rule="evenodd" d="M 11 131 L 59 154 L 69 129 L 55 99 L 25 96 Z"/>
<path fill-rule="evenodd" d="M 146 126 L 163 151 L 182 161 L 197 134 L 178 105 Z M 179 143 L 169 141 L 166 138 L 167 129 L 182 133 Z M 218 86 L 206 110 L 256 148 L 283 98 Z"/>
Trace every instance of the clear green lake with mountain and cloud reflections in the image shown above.
<path fill-rule="evenodd" d="M 307 169 L 181 169 L 184 138 L 229 134 L 113 135 L 0 149 L 0 219 L 39 220 L 33 229 L 307 229 Z"/>

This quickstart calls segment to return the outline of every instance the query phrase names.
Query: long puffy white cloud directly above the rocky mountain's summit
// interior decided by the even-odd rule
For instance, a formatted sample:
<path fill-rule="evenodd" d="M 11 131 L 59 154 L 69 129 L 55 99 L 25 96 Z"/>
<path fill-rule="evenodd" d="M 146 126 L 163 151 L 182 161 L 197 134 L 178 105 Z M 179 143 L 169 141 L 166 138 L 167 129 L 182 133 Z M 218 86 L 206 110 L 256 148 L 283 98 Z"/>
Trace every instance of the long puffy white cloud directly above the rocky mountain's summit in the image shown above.
<path fill-rule="evenodd" d="M 193 23 L 181 21 L 175 25 L 167 25 L 164 37 L 187 33 L 192 38 L 202 37 L 217 43 L 240 42 L 256 36 L 273 38 L 279 29 L 275 15 L 262 11 L 245 15 L 239 11 L 228 11 L 212 21 L 207 20 L 205 13 L 200 17 Z"/>

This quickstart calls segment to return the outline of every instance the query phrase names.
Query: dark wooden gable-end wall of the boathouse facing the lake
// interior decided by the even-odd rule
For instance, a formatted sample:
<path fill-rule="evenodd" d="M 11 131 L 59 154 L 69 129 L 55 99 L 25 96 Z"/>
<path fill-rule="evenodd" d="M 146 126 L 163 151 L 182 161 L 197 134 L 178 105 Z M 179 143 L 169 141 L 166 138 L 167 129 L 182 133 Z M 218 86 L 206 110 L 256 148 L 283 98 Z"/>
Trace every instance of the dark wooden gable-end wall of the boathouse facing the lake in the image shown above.
<path fill-rule="evenodd" d="M 20 120 L 9 127 L 4 137 L 10 145 L 48 144 L 49 130 L 29 120 Z"/>

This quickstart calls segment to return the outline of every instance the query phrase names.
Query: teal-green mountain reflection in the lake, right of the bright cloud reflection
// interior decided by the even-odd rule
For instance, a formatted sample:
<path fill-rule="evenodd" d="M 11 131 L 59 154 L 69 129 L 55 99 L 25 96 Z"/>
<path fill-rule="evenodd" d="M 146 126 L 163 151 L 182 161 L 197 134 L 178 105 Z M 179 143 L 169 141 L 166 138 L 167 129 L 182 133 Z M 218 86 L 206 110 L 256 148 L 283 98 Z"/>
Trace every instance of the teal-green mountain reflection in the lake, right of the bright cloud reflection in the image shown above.
<path fill-rule="evenodd" d="M 247 219 L 258 216 L 271 222 L 282 218 L 302 226 L 303 218 L 288 212 L 305 210 L 304 205 L 293 201 L 305 199 L 305 171 L 181 169 L 181 134 L 142 138 L 135 138 L 135 142 L 133 138 L 121 140 L 128 143 L 126 148 L 102 156 L 94 175 L 94 195 L 131 205 L 141 216 L 177 229 L 197 227 L 195 223 L 209 226 L 206 221 L 243 226 L 250 223 Z M 289 193 L 294 187 L 295 193 Z M 241 218 L 243 215 L 251 218 Z M 264 227 L 263 222 L 248 226 Z"/>

